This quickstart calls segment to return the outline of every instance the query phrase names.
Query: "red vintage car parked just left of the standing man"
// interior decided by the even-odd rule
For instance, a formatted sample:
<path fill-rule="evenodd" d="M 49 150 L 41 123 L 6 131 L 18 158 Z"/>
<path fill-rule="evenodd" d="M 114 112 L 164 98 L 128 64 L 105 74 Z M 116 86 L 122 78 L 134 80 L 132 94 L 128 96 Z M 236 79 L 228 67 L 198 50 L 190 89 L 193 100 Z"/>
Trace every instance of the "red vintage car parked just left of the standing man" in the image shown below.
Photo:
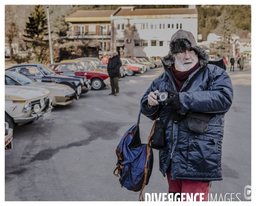
<path fill-rule="evenodd" d="M 100 90 L 103 87 L 110 85 L 110 78 L 108 73 L 90 70 L 80 63 L 53 63 L 48 67 L 57 74 L 63 74 L 67 76 L 86 76 L 87 80 L 90 80 L 90 85 L 93 90 Z"/>

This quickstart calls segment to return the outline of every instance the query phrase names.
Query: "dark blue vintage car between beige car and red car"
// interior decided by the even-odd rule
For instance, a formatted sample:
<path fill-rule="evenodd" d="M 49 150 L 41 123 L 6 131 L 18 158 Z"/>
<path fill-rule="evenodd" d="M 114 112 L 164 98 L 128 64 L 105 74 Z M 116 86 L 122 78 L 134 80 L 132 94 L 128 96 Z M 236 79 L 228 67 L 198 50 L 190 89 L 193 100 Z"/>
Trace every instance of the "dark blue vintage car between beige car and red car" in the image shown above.
<path fill-rule="evenodd" d="M 55 82 L 60 84 L 65 84 L 70 86 L 72 89 L 76 91 L 77 99 L 80 94 L 87 93 L 90 90 L 90 85 L 88 81 L 86 81 L 86 77 L 79 76 L 64 76 L 58 75 L 43 64 L 31 63 L 31 64 L 18 64 L 12 66 L 6 70 L 15 71 L 25 76 L 34 79 L 38 82 Z M 85 83 L 84 83 L 85 81 Z"/>

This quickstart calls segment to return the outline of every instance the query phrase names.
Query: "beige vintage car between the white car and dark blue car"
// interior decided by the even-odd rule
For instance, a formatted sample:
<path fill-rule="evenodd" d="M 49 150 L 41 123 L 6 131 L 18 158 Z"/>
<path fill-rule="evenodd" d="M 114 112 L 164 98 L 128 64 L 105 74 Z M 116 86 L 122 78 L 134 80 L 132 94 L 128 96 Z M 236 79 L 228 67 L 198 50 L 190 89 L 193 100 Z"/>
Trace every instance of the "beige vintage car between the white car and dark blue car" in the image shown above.
<path fill-rule="evenodd" d="M 68 105 L 75 102 L 76 91 L 70 86 L 58 83 L 36 82 L 14 71 L 5 72 L 5 85 L 26 85 L 48 89 L 52 96 L 52 106 Z"/>

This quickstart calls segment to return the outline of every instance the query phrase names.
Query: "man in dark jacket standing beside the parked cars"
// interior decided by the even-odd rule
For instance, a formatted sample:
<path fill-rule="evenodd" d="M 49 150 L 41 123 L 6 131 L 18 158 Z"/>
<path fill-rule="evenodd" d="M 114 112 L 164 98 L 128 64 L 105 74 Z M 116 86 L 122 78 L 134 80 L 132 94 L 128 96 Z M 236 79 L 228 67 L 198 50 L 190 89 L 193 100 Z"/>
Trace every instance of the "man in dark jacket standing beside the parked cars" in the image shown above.
<path fill-rule="evenodd" d="M 111 93 L 109 95 L 119 95 L 119 76 L 120 76 L 120 67 L 122 62 L 117 54 L 117 52 L 110 51 L 110 58 L 108 60 L 108 75 L 110 77 Z"/>

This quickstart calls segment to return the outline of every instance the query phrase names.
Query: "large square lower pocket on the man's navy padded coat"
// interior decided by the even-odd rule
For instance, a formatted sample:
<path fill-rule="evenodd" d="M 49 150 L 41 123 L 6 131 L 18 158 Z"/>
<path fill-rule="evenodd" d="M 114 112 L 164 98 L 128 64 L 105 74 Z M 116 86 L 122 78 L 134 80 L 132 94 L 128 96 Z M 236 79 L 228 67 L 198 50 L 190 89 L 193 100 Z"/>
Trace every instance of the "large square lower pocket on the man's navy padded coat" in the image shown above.
<path fill-rule="evenodd" d="M 189 137 L 187 172 L 218 172 L 218 139 Z"/>

